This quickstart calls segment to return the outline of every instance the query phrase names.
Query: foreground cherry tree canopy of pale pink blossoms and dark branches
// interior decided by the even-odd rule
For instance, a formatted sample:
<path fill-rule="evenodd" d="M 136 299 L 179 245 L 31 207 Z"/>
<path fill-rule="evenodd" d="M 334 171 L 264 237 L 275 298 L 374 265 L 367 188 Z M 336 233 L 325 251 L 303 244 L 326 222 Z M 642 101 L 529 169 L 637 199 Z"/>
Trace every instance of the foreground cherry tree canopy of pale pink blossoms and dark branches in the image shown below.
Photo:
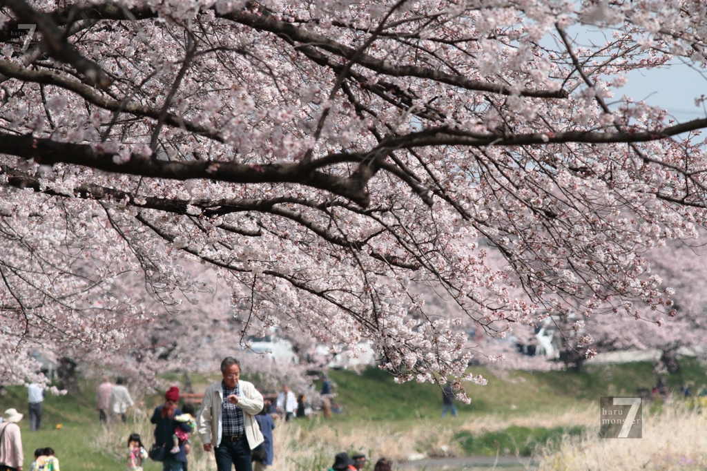
<path fill-rule="evenodd" d="M 662 322 L 643 253 L 705 223 L 707 118 L 614 98 L 629 71 L 705 66 L 702 1 L 0 8 L 0 305 L 18 349 L 110 349 L 144 315 L 111 284 L 187 289 L 188 256 L 221 272 L 248 335 L 370 339 L 399 380 L 458 388 L 484 381 L 468 324 L 503 336 L 637 303 Z M 606 39 L 582 44 L 578 24 Z M 427 313 L 411 284 L 463 315 Z"/>

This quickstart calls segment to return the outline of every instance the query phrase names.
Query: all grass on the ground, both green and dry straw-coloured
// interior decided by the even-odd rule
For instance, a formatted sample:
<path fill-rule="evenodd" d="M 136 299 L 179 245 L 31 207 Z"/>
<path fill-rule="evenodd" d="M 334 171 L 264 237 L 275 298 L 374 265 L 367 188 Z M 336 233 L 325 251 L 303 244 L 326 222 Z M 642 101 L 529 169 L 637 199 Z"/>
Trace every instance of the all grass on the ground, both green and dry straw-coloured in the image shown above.
<path fill-rule="evenodd" d="M 374 369 L 363 371 L 361 376 L 332 371 L 331 377 L 338 385 L 336 400 L 344 412 L 327 421 L 315 417 L 291 424 L 278 422 L 271 469 L 325 471 L 342 450 L 366 453 L 374 462 L 383 456 L 403 463 L 421 455 L 514 455 L 520 448 L 523 451 L 519 454 L 532 453 L 534 470 L 707 469 L 707 407 L 690 408 L 689 401 L 677 397 L 680 384 L 691 384 L 696 390 L 705 382 L 705 367 L 692 359 L 681 364 L 681 373 L 667 376 L 676 399 L 666 405 L 644 407 L 643 438 L 636 440 L 597 438 L 598 400 L 604 395 L 631 395 L 636 388 L 650 387 L 656 380 L 650 364 L 601 366 L 580 373 L 518 371 L 503 378 L 486 374 L 491 376 L 489 386 L 474 389 L 472 404 L 458 407 L 460 417 L 445 419 L 440 419 L 440 392 L 435 385 L 395 385 L 390 376 Z M 178 380 L 176 376 L 165 379 Z M 201 382 L 205 383 L 206 378 Z M 161 396 L 144 397 L 139 405 L 141 412 L 134 414 L 127 425 L 104 427 L 98 424 L 93 388 L 90 383 L 83 384 L 81 395 L 47 397 L 39 432 L 30 433 L 28 421 L 21 421 L 27 467 L 34 448 L 52 446 L 65 470 L 119 470 L 124 467 L 129 434 L 137 432 L 147 447 L 151 445 L 153 427 L 148 412 Z M 0 396 L 4 409 L 25 410 L 26 389 L 6 389 L 6 395 Z M 570 429 L 580 430 L 579 435 L 563 436 L 563 431 Z M 520 432 L 532 432 L 532 440 Z M 551 440 L 535 440 L 545 432 Z M 525 443 L 518 443 L 523 440 Z M 201 452 L 199 439 L 194 437 L 192 442 L 189 470 L 215 470 L 211 455 Z M 158 471 L 161 467 L 160 463 L 148 462 L 144 469 Z"/>

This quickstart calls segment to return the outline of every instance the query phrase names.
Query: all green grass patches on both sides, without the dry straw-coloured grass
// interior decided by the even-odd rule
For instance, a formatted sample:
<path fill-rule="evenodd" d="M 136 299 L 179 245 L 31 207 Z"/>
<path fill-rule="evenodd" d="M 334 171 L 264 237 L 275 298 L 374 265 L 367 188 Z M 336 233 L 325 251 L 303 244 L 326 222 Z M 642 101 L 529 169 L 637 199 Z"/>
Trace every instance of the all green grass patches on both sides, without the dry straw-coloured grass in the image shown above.
<path fill-rule="evenodd" d="M 679 385 L 692 383 L 696 392 L 707 383 L 705 368 L 694 359 L 681 359 L 680 373 L 665 375 L 667 384 L 679 393 Z M 442 395 L 436 385 L 416 382 L 396 384 L 392 377 L 378 368 L 368 368 L 361 375 L 352 371 L 330 371 L 329 376 L 337 385 L 335 392 L 338 402 L 344 407 L 343 414 L 334 414 L 331 421 L 317 418 L 303 423 L 315 428 L 327 423 L 335 428 L 352 426 L 356 422 L 379 421 L 391 431 L 407 429 L 420 424 L 445 423 L 457 429 L 457 441 L 466 453 L 495 455 L 506 448 L 511 453 L 530 453 L 538 444 L 556 441 L 563 433 L 576 431 L 563 429 L 525 429 L 509 427 L 498 432 L 484 432 L 477 435 L 461 431 L 464 421 L 470 417 L 486 414 L 494 417 L 523 416 L 534 413 L 561 414 L 568 409 L 598 407 L 599 398 L 605 395 L 633 395 L 637 388 L 651 388 L 657 377 L 653 365 L 632 363 L 615 366 L 590 366 L 584 371 L 549 371 L 529 373 L 515 371 L 508 373 L 508 380 L 496 378 L 484 368 L 472 368 L 474 374 L 489 379 L 489 385 L 481 387 L 469 385 L 472 397 L 470 405 L 457 402 L 460 417 L 440 419 Z M 174 379 L 181 375 L 175 373 Z M 210 375 L 216 378 L 218 372 Z M 204 383 L 206 376 L 192 376 L 192 382 Z M 317 385 L 320 386 L 320 385 Z M 0 409 L 15 407 L 25 414 L 20 422 L 25 451 L 25 468 L 33 461 L 35 448 L 51 446 L 64 470 L 116 470 L 123 466 L 108 452 L 87 446 L 100 431 L 98 412 L 95 411 L 95 384 L 83 383 L 78 395 L 47 395 L 42 419 L 42 429 L 29 431 L 27 413 L 27 390 L 23 387 L 8 387 L 8 394 L 0 396 Z M 161 395 L 148 396 L 143 409 L 160 402 Z M 654 403 L 650 407 L 660 407 Z M 62 424 L 57 429 L 57 424 Z M 150 437 L 144 440 L 146 446 Z M 498 445 L 498 446 L 497 446 Z M 146 463 L 146 471 L 157 471 L 158 463 Z"/>

